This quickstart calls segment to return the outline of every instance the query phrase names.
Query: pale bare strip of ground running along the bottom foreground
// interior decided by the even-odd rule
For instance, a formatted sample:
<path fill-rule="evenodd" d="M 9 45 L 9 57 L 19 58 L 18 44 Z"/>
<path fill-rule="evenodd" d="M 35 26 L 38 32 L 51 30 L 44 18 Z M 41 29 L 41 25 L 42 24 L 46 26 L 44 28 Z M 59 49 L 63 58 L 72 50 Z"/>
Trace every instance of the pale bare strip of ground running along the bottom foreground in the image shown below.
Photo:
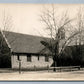
<path fill-rule="evenodd" d="M 72 72 L 18 72 L 0 73 L 0 80 L 5 81 L 84 81 L 84 71 Z"/>

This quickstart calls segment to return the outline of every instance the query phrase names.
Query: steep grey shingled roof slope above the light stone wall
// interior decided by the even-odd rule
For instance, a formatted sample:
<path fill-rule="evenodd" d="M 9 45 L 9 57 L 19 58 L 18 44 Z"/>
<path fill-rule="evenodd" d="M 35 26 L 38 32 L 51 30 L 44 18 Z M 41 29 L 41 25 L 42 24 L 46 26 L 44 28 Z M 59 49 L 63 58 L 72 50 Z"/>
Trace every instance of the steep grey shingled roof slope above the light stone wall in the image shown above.
<path fill-rule="evenodd" d="M 40 53 L 45 48 L 45 46 L 41 44 L 41 41 L 50 40 L 49 38 L 15 32 L 4 31 L 3 33 L 12 52 L 15 53 Z M 49 52 L 49 50 L 45 52 Z"/>

